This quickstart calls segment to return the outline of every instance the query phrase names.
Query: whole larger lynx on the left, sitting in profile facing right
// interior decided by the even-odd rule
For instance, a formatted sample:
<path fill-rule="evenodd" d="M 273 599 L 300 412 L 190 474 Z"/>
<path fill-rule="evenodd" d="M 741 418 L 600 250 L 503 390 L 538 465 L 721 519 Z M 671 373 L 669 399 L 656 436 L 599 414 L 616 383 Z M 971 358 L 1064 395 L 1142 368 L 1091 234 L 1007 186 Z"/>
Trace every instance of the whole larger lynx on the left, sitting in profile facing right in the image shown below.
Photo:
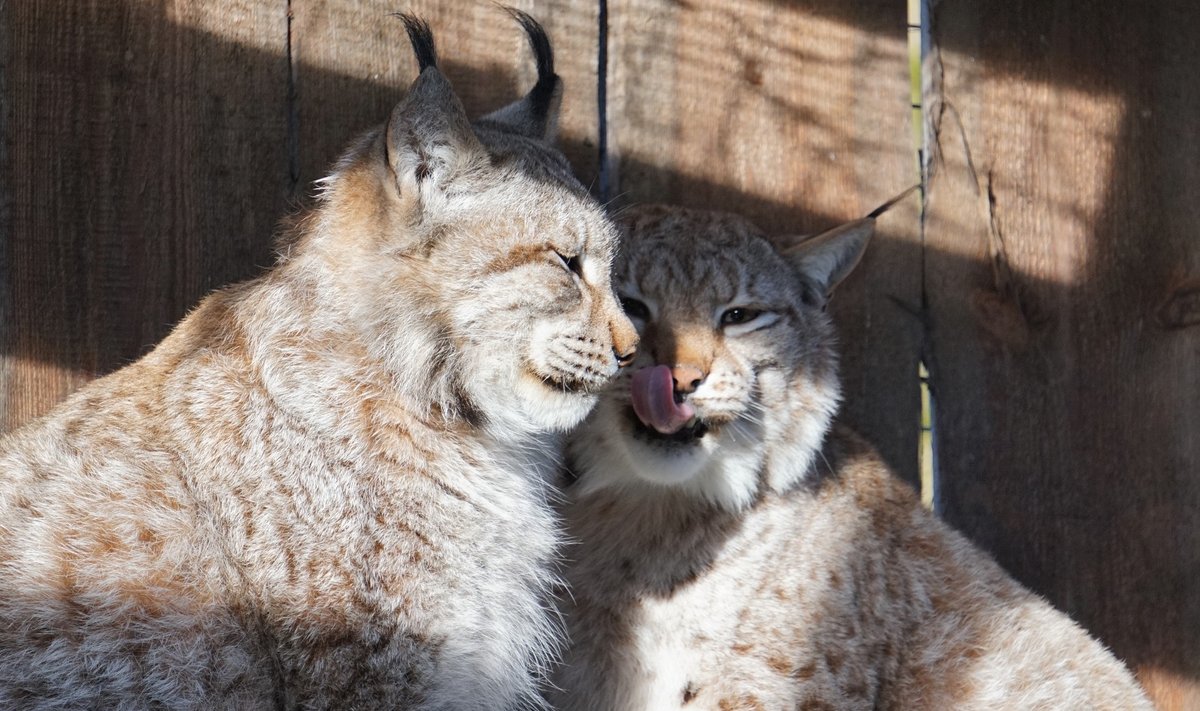
<path fill-rule="evenodd" d="M 637 334 L 536 85 L 421 72 L 278 264 L 0 441 L 0 707 L 545 705 L 556 432 Z"/>

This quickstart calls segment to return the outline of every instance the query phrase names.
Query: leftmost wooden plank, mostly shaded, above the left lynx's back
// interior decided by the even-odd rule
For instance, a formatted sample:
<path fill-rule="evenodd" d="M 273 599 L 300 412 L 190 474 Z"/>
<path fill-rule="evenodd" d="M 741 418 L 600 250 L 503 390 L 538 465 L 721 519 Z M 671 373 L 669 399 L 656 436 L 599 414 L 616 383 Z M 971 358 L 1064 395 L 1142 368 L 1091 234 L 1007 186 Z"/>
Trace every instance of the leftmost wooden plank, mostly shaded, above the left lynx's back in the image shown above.
<path fill-rule="evenodd" d="M 0 12 L 6 430 L 269 263 L 286 197 L 287 17 L 268 0 Z"/>

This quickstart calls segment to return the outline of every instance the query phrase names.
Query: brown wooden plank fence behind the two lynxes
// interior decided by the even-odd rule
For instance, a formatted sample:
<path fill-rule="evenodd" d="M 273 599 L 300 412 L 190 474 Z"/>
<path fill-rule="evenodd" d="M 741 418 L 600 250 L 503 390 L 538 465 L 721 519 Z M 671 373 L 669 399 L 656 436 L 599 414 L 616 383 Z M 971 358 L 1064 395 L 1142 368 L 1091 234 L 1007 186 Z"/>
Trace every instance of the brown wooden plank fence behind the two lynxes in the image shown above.
<path fill-rule="evenodd" d="M 902 0 L 529 0 L 563 147 L 617 204 L 775 232 L 916 181 Z M 415 74 L 434 28 L 468 110 L 532 83 L 487 2 L 0 2 L 0 422 L 136 359 L 272 261 L 277 220 Z M 925 210 L 881 223 L 834 305 L 846 418 L 941 513 L 1200 707 L 1200 6 L 926 8 Z"/>

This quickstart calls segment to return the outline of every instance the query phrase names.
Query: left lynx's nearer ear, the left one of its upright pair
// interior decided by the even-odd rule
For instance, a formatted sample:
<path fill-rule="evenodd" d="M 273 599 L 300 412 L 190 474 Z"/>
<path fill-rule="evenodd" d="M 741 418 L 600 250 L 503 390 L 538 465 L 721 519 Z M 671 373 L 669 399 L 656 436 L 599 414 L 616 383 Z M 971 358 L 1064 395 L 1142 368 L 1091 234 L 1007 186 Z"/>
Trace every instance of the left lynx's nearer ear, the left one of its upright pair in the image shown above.
<path fill-rule="evenodd" d="M 388 165 L 401 199 L 432 208 L 457 175 L 487 160 L 462 102 L 437 67 L 433 34 L 421 19 L 400 14 L 421 68 L 408 94 L 391 112 L 385 136 Z"/>

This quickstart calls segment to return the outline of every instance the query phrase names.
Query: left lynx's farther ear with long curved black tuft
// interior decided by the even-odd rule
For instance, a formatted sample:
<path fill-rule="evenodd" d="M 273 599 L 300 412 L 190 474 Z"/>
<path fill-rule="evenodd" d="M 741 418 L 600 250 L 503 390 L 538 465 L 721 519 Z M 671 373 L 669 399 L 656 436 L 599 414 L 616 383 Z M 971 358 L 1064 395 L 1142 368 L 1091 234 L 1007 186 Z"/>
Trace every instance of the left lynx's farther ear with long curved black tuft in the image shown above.
<path fill-rule="evenodd" d="M 554 73 L 554 52 L 550 46 L 550 38 L 534 18 L 512 7 L 504 10 L 521 23 L 529 38 L 529 47 L 538 61 L 538 83 L 523 98 L 482 116 L 479 123 L 491 124 L 509 133 L 553 142 L 558 132 L 558 107 L 563 100 L 563 82 Z"/>

